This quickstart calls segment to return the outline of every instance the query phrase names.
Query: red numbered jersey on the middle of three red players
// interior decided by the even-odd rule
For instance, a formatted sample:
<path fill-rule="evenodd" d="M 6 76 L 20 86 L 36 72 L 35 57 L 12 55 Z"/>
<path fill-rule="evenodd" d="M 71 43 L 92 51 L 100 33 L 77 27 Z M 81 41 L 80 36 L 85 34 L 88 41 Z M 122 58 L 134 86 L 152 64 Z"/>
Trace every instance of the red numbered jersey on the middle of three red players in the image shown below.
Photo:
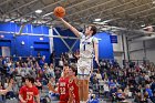
<path fill-rule="evenodd" d="M 69 78 L 59 79 L 60 103 L 68 103 L 69 101 Z"/>

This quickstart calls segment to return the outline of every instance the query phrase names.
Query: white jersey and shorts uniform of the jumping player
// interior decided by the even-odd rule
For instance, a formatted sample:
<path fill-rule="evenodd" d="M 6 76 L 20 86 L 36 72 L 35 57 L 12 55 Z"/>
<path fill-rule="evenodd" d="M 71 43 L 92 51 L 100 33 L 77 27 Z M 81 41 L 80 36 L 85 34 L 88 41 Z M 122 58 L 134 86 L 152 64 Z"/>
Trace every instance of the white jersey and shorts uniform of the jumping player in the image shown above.
<path fill-rule="evenodd" d="M 99 43 L 94 37 L 86 37 L 80 33 L 80 59 L 78 61 L 78 74 L 90 75 L 93 69 L 94 43 Z"/>

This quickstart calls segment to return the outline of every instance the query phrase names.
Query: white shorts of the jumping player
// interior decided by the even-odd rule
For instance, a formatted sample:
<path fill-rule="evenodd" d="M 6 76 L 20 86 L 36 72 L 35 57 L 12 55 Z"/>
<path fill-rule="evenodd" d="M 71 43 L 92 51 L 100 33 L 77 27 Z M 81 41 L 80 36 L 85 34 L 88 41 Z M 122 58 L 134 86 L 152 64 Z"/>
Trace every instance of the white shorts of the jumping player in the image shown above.
<path fill-rule="evenodd" d="M 78 75 L 90 75 L 93 69 L 93 59 L 80 58 L 78 61 Z"/>

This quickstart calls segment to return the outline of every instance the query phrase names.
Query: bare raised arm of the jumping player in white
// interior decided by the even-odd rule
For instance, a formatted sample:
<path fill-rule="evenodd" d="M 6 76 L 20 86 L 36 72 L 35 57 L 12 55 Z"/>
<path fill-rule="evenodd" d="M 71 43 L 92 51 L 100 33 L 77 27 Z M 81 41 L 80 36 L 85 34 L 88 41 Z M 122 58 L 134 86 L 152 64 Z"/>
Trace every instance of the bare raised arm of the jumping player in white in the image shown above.
<path fill-rule="evenodd" d="M 63 18 L 60 18 L 60 20 L 64 23 L 64 25 L 66 28 L 69 28 L 76 37 L 80 37 L 80 32 L 74 28 L 72 27 L 69 22 L 66 22 Z"/>

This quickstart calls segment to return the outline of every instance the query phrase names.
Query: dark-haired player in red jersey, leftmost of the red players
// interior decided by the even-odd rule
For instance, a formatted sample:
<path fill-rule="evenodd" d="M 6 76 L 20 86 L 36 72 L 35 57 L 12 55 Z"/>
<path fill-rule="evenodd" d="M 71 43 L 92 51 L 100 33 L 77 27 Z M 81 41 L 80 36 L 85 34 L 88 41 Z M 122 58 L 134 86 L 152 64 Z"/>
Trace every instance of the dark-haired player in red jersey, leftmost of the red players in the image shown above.
<path fill-rule="evenodd" d="M 39 90 L 33 85 L 34 79 L 32 76 L 25 78 L 25 85 L 20 89 L 19 100 L 20 103 L 40 103 Z M 34 99 L 37 102 L 34 102 Z"/>

